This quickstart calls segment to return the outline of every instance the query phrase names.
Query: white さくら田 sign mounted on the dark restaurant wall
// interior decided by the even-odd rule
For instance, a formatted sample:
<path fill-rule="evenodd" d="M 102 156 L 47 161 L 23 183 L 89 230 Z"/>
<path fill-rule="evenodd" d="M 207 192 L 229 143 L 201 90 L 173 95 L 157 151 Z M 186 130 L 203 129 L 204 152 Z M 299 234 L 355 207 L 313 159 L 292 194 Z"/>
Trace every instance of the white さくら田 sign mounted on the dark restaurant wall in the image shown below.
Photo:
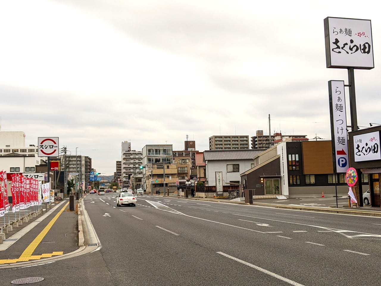
<path fill-rule="evenodd" d="M 379 131 L 353 136 L 355 162 L 381 160 Z"/>

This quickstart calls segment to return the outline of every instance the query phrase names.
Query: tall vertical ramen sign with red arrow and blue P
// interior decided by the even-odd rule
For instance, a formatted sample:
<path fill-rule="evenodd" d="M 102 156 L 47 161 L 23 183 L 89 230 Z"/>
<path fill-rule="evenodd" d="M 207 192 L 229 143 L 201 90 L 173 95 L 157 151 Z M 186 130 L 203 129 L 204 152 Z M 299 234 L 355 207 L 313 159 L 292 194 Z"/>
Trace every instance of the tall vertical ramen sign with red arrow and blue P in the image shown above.
<path fill-rule="evenodd" d="M 331 118 L 331 141 L 333 171 L 346 173 L 349 167 L 347 117 L 345 108 L 344 81 L 328 82 Z"/>

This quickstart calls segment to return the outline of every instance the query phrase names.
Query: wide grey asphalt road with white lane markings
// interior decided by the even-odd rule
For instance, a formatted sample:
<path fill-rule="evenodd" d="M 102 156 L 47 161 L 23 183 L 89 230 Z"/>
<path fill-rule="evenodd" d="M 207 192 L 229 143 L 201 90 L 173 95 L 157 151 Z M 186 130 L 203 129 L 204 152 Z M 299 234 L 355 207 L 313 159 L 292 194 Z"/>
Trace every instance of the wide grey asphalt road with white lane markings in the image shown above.
<path fill-rule="evenodd" d="M 115 193 L 88 195 L 84 205 L 98 251 L 13 271 L 54 275 L 54 285 L 381 282 L 379 217 L 162 196 L 139 196 L 136 207 L 116 207 Z M 10 271 L 2 274 L 11 277 Z"/>

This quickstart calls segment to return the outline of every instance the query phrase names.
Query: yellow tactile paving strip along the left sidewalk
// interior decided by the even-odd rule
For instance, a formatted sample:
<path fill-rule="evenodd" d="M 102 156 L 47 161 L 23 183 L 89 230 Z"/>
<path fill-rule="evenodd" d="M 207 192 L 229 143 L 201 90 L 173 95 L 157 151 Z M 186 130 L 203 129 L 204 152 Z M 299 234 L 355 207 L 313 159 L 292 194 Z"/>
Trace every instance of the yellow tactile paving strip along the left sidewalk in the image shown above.
<path fill-rule="evenodd" d="M 53 224 L 58 219 L 59 215 L 62 214 L 64 209 L 67 207 L 69 202 L 65 204 L 64 207 L 56 214 L 53 219 L 46 225 L 46 227 L 37 235 L 37 237 L 29 244 L 29 246 L 22 252 L 19 258 L 17 259 L 0 259 L 0 264 L 8 264 L 8 263 L 16 263 L 16 262 L 22 262 L 22 261 L 29 261 L 29 260 L 36 260 L 46 257 L 52 257 L 53 255 L 62 255 L 63 251 L 54 251 L 53 253 L 44 253 L 42 255 L 32 255 L 35 249 L 37 248 L 38 244 L 41 243 L 42 239 L 45 237 L 45 235 L 48 233 L 48 231 L 53 227 Z"/>

